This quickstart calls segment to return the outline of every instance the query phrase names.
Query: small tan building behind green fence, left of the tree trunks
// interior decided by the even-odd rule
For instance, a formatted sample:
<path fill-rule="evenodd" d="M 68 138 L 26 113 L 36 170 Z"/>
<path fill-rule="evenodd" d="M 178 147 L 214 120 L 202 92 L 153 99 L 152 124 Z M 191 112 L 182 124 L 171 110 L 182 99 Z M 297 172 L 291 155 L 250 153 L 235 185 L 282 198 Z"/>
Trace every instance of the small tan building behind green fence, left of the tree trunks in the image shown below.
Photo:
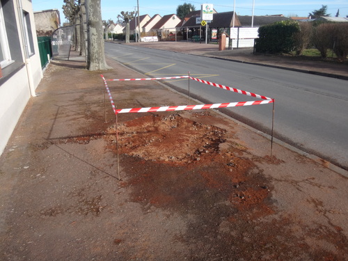
<path fill-rule="evenodd" d="M 36 33 L 38 36 L 51 36 L 61 24 L 58 9 L 34 12 Z"/>

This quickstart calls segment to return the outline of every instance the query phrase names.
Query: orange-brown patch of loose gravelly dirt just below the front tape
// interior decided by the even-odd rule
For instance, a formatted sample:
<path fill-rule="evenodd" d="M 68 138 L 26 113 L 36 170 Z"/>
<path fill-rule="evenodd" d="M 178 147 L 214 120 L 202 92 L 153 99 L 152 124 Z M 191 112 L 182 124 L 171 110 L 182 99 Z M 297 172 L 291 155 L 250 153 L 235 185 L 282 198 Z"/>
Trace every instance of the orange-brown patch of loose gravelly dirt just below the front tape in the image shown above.
<path fill-rule="evenodd" d="M 219 151 L 225 129 L 183 118 L 145 116 L 120 125 L 119 148 L 125 155 L 152 161 L 199 161 Z"/>

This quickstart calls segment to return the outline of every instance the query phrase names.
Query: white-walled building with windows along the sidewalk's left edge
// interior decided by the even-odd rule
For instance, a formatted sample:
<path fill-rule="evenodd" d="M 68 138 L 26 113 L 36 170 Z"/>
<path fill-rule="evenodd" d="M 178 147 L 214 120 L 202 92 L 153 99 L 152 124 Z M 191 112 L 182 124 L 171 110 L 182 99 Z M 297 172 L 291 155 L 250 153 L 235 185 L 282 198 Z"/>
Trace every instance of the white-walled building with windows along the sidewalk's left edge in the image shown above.
<path fill-rule="evenodd" d="M 31 0 L 0 0 L 0 154 L 42 79 Z"/>

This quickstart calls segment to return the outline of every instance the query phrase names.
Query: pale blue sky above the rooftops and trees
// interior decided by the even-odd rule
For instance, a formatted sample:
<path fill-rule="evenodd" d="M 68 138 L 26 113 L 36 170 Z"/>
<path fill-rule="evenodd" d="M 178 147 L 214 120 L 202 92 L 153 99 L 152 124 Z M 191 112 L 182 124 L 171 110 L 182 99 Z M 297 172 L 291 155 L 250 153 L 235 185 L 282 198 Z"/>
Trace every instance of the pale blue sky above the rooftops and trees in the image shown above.
<path fill-rule="evenodd" d="M 251 15 L 253 8 L 253 0 L 235 0 L 236 13 L 239 15 Z M 286 2 L 286 3 L 285 3 Z M 290 3 L 289 3 L 290 2 Z M 63 0 L 32 0 L 33 10 L 58 9 L 61 11 L 61 22 L 65 22 L 63 15 Z M 200 9 L 201 3 L 212 3 L 214 9 L 218 12 L 228 12 L 233 10 L 234 0 L 218 0 L 218 1 L 184 1 L 184 0 L 139 0 L 140 14 L 152 15 L 159 14 L 161 16 L 176 13 L 176 8 L 183 3 L 191 3 L 196 6 L 196 10 Z M 117 16 L 121 11 L 132 11 L 137 5 L 136 0 L 117 1 L 102 0 L 102 19 L 117 20 Z M 335 16 L 337 10 L 340 9 L 340 17 L 348 15 L 348 0 L 331 0 L 331 1 L 279 1 L 279 0 L 255 0 L 254 15 L 278 15 L 284 16 L 308 16 L 313 10 L 318 10 L 322 5 L 328 6 L 328 13 Z"/>

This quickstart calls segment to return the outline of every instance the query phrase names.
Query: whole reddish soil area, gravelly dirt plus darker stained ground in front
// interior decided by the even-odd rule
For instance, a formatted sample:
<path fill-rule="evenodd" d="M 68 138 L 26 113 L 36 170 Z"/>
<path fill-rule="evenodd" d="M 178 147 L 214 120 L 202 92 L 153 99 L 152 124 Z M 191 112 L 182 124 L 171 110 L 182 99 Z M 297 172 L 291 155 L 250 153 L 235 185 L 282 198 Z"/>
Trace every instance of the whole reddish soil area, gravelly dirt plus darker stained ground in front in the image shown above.
<path fill-rule="evenodd" d="M 122 184 L 136 188 L 133 200 L 181 210 L 198 202 L 206 209 L 222 200 L 228 202 L 226 213 L 260 208 L 271 214 L 264 205 L 269 189 L 262 171 L 227 141 L 226 129 L 204 118 L 150 115 L 119 125 L 118 149 L 128 173 Z M 109 148 L 116 152 L 114 127 L 109 132 Z"/>

